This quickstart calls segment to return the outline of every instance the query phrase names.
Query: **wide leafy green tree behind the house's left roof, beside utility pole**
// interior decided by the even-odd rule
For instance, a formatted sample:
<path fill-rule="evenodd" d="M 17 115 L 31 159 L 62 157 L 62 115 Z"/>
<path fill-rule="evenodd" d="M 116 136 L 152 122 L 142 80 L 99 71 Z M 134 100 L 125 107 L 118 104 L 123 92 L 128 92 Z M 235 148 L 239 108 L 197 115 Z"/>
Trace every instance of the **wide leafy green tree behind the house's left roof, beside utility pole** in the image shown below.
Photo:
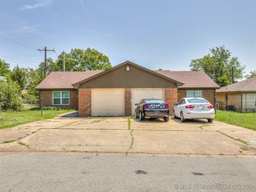
<path fill-rule="evenodd" d="M 111 68 L 108 56 L 96 49 L 71 49 L 65 53 L 66 71 L 106 70 Z M 47 72 L 63 71 L 63 52 L 58 59 L 47 63 Z"/>

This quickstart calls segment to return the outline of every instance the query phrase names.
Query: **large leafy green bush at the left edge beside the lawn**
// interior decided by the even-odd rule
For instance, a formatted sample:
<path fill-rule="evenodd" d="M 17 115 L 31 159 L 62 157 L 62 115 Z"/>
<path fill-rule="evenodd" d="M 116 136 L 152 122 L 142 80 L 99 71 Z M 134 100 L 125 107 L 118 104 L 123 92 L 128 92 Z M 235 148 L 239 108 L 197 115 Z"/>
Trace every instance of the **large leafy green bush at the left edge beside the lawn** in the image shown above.
<path fill-rule="evenodd" d="M 22 100 L 17 83 L 0 81 L 0 111 L 21 111 Z"/>

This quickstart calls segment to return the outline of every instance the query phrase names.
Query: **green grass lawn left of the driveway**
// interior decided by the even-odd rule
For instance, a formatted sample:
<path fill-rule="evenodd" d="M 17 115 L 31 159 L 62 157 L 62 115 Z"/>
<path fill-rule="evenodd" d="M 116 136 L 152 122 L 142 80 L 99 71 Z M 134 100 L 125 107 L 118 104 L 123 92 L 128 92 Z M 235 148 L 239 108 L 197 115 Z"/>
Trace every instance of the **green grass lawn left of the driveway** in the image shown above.
<path fill-rule="evenodd" d="M 51 109 L 44 110 L 41 115 L 40 109 L 31 108 L 21 112 L 0 112 L 0 129 L 7 127 L 13 127 L 15 125 L 27 124 L 38 120 L 44 120 L 47 118 L 53 118 L 54 116 L 60 115 L 61 113 L 67 113 L 73 111 L 71 109 Z"/>

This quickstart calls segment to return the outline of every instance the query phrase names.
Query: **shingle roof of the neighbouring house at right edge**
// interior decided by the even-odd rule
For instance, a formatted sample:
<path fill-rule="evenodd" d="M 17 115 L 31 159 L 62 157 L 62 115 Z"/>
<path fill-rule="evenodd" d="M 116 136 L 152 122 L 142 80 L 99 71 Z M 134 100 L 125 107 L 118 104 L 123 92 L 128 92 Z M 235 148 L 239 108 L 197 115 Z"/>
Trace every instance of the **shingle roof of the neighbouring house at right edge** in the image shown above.
<path fill-rule="evenodd" d="M 216 92 L 256 92 L 256 77 L 223 86 Z"/>

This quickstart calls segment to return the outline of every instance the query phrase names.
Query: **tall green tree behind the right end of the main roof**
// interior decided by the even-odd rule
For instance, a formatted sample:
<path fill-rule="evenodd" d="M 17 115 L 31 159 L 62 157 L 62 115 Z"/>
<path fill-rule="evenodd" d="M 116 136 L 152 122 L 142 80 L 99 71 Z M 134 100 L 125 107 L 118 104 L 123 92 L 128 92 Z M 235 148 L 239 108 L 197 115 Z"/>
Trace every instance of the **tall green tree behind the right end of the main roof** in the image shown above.
<path fill-rule="evenodd" d="M 225 46 L 210 49 L 211 53 L 202 58 L 191 60 L 190 67 L 194 71 L 204 71 L 220 86 L 232 84 L 232 68 L 234 68 L 234 80 L 242 79 L 244 65 Z"/>

